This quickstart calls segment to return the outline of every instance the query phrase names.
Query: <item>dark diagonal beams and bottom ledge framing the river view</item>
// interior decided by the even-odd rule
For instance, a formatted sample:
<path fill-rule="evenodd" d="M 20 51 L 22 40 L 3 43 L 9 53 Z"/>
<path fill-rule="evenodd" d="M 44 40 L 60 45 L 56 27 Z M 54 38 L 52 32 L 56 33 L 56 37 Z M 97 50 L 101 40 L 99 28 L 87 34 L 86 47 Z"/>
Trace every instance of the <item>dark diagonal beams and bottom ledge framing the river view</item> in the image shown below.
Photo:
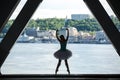
<path fill-rule="evenodd" d="M 4 0 L 3 0 L 4 1 Z M 6 0 L 7 1 L 7 0 Z M 113 0 L 107 0 L 110 3 L 110 6 L 112 6 L 112 9 L 116 9 L 114 7 L 115 4 L 111 4 L 111 2 Z M 22 32 L 22 30 L 24 29 L 25 25 L 27 24 L 27 22 L 29 21 L 29 19 L 31 18 L 31 16 L 33 15 L 33 13 L 35 12 L 36 8 L 38 7 L 38 5 L 42 2 L 42 0 L 28 0 L 25 4 L 25 6 L 23 7 L 23 9 L 21 10 L 21 12 L 19 13 L 18 17 L 16 18 L 16 20 L 14 21 L 13 25 L 11 26 L 11 28 L 9 29 L 8 33 L 6 34 L 5 38 L 2 40 L 2 42 L 0 43 L 0 67 L 2 66 L 2 64 L 4 63 L 6 57 L 9 54 L 10 49 L 12 48 L 12 46 L 14 45 L 16 39 L 18 38 L 18 36 L 20 35 L 20 33 Z M 115 28 L 115 25 L 113 24 L 113 22 L 110 20 L 110 18 L 108 17 L 108 14 L 106 13 L 106 11 L 103 9 L 102 5 L 100 4 L 100 2 L 98 0 L 84 0 L 84 2 L 86 3 L 86 5 L 89 7 L 89 9 L 91 10 L 91 12 L 93 13 L 93 15 L 96 17 L 96 19 L 98 20 L 98 22 L 101 24 L 103 30 L 105 31 L 105 33 L 107 34 L 107 36 L 110 38 L 113 46 L 115 47 L 116 51 L 118 52 L 118 54 L 120 55 L 120 34 L 118 32 L 118 30 Z M 118 2 L 115 2 L 116 4 L 120 3 L 120 1 L 118 0 Z M 33 7 L 34 4 L 34 7 Z M 118 5 L 119 8 L 118 10 L 113 10 L 113 11 L 118 11 L 120 12 L 120 5 Z M 102 13 L 99 14 L 98 10 Z M 26 18 L 24 18 L 26 16 L 26 14 L 28 15 Z M 119 17 L 119 13 L 115 12 L 115 14 Z M 103 19 L 101 19 L 100 17 L 102 16 Z M 8 17 L 6 18 L 8 19 Z M 104 23 L 104 19 L 106 19 L 108 22 Z M 21 21 L 23 20 L 23 22 Z M 103 21 L 102 21 L 103 20 Z M 20 21 L 20 22 L 19 22 Z M 5 21 L 4 21 L 5 22 Z M 22 23 L 22 24 L 20 24 Z M 18 28 L 15 28 L 16 25 L 19 25 Z M 108 28 L 107 24 L 112 26 L 112 30 Z M 3 27 L 3 26 L 2 26 Z M 106 28 L 107 27 L 107 28 Z M 19 30 L 18 30 L 19 29 Z M 13 33 L 14 31 L 17 32 L 17 34 Z M 111 34 L 114 34 L 116 36 L 111 36 Z M 10 44 L 7 43 L 7 41 L 10 40 Z M 5 47 L 5 45 L 9 45 L 8 47 Z M 6 79 L 96 79 L 96 78 L 119 78 L 120 74 L 71 74 L 71 75 L 38 75 L 38 74 L 11 74 L 11 75 L 4 75 L 0 73 L 0 79 L 1 78 L 6 78 Z"/>

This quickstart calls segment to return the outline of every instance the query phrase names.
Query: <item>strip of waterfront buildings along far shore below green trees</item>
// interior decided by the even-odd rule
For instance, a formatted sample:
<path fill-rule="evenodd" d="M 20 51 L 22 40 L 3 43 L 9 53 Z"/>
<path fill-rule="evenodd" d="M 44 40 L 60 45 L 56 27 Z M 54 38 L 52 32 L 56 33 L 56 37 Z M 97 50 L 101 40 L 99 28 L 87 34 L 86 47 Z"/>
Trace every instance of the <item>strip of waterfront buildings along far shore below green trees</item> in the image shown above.
<path fill-rule="evenodd" d="M 110 43 L 103 31 L 97 31 L 94 35 L 91 35 L 89 32 L 78 32 L 75 27 L 69 27 L 68 29 L 69 43 Z M 55 34 L 56 30 L 26 29 L 17 42 L 57 43 Z"/>

